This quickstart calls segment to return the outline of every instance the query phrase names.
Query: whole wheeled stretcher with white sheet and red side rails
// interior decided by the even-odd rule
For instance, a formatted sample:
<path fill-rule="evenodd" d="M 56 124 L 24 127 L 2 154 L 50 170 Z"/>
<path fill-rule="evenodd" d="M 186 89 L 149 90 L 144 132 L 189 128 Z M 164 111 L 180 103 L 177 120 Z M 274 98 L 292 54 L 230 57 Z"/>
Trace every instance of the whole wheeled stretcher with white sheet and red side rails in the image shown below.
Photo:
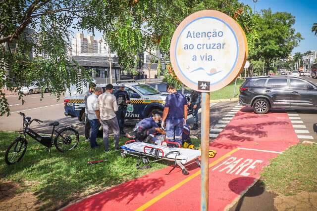
<path fill-rule="evenodd" d="M 201 163 L 199 158 L 201 157 L 200 150 L 188 149 L 188 148 L 180 148 L 179 147 L 168 147 L 163 146 L 163 144 L 175 144 L 178 143 L 163 141 L 161 145 L 155 145 L 144 142 L 137 142 L 135 140 L 130 140 L 125 143 L 125 145 L 121 146 L 121 157 L 126 158 L 127 155 L 138 157 L 142 160 L 143 164 L 148 165 L 150 163 L 149 158 L 154 158 L 153 162 L 158 162 L 161 160 L 174 162 L 174 167 L 180 167 L 182 169 L 182 173 L 184 175 L 188 175 L 188 171 L 185 168 L 193 163 L 196 163 L 199 167 Z M 139 169 L 140 164 L 138 163 L 136 167 Z M 147 167 L 146 167 L 147 168 Z M 150 168 L 148 166 L 148 168 Z M 173 170 L 171 169 L 169 173 Z M 168 173 L 168 174 L 169 174 Z"/>

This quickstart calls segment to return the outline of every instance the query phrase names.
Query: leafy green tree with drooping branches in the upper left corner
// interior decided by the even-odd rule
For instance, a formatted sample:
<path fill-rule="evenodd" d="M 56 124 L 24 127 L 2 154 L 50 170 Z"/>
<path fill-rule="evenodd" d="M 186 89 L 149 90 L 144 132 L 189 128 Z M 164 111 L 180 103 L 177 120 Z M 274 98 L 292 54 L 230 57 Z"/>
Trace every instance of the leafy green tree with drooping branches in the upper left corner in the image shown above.
<path fill-rule="evenodd" d="M 38 81 L 59 95 L 88 71 L 67 56 L 71 28 L 89 9 L 85 0 L 6 0 L 0 4 L 0 115 L 9 115 L 3 88 L 19 91 Z M 31 52 L 34 52 L 32 57 Z M 45 56 L 43 56 L 43 54 Z M 13 82 L 13 83 L 12 83 Z M 19 93 L 23 101 L 23 94 Z M 43 97 L 43 93 L 42 93 Z M 42 99 L 42 98 L 41 98 Z"/>

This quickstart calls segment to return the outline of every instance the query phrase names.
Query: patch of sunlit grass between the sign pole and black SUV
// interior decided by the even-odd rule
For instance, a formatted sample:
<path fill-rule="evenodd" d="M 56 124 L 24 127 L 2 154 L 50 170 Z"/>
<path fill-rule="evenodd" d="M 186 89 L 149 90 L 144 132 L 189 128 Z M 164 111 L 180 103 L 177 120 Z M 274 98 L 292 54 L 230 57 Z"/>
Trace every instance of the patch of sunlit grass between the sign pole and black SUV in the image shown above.
<path fill-rule="evenodd" d="M 237 86 L 236 86 L 236 92 L 235 95 L 233 96 L 234 92 L 234 83 L 233 81 L 231 84 L 227 85 L 224 88 L 221 88 L 217 91 L 213 91 L 210 94 L 210 99 L 211 100 L 219 100 L 219 99 L 230 99 L 230 98 L 236 98 L 239 96 L 239 88 L 243 84 L 245 80 L 244 79 L 237 79 Z"/>

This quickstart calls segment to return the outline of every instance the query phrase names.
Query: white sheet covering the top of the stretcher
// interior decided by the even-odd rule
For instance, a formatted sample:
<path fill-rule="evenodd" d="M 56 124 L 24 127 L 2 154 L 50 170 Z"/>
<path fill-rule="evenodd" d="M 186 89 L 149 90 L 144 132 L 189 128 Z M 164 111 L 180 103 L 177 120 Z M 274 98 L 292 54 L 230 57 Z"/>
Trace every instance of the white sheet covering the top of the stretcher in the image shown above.
<path fill-rule="evenodd" d="M 149 144 L 149 143 L 144 143 L 144 142 L 133 142 L 129 143 L 126 145 L 121 146 L 123 150 L 129 150 L 133 152 L 144 152 L 144 147 L 149 146 L 149 147 L 154 147 L 154 148 L 159 148 L 162 149 L 164 152 L 164 157 L 169 158 L 169 159 L 175 159 L 175 155 L 177 153 L 171 153 L 166 157 L 166 154 L 172 151 L 179 151 L 180 155 L 176 156 L 176 159 L 181 160 L 181 163 L 185 165 L 186 163 L 197 159 L 201 156 L 201 151 L 200 150 L 195 150 L 195 149 L 186 149 L 186 148 L 176 148 L 176 147 L 167 147 L 167 146 L 160 146 L 160 145 L 155 145 L 155 144 Z M 150 154 L 151 148 L 146 148 L 145 152 Z M 154 151 L 151 153 L 154 155 Z M 162 152 L 159 151 L 159 156 L 162 156 Z"/>

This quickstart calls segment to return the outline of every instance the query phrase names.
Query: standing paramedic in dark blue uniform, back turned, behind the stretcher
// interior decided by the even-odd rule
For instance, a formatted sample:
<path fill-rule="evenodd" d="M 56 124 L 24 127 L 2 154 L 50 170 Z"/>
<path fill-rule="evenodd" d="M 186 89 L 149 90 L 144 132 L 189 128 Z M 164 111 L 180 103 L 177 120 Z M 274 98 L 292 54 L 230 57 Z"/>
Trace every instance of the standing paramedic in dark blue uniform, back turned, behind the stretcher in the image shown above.
<path fill-rule="evenodd" d="M 183 126 L 187 119 L 187 99 L 178 93 L 173 85 L 168 84 L 169 95 L 165 100 L 162 126 L 166 123 L 166 140 L 182 144 Z"/>

